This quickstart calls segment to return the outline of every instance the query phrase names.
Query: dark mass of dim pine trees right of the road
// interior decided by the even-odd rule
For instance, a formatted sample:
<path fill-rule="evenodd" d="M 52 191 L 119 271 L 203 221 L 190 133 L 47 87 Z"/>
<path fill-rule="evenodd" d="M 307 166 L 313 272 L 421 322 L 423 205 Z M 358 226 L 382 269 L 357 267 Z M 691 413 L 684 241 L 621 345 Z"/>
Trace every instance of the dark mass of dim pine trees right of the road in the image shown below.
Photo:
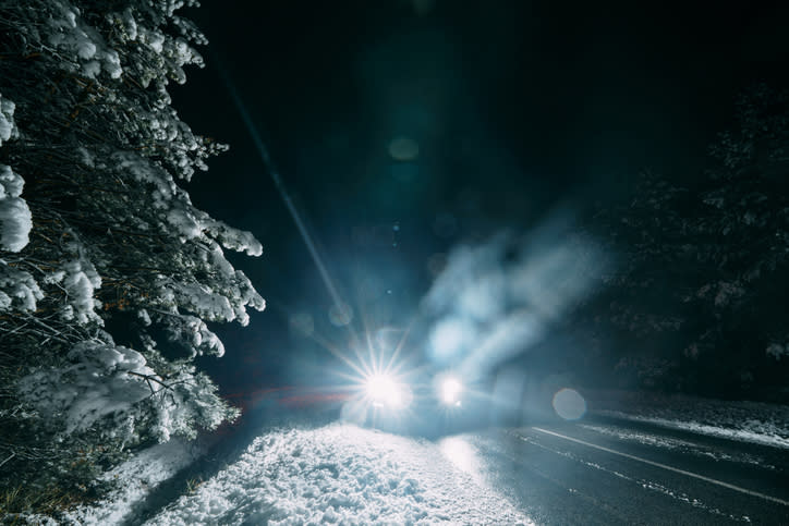
<path fill-rule="evenodd" d="M 621 377 L 675 387 L 682 379 L 672 369 L 682 364 L 685 383 L 709 394 L 781 395 L 789 95 L 754 86 L 739 97 L 736 117 L 692 184 L 644 172 L 627 204 L 592 221 L 618 270 L 587 314 L 598 335 L 619 337 Z"/>

